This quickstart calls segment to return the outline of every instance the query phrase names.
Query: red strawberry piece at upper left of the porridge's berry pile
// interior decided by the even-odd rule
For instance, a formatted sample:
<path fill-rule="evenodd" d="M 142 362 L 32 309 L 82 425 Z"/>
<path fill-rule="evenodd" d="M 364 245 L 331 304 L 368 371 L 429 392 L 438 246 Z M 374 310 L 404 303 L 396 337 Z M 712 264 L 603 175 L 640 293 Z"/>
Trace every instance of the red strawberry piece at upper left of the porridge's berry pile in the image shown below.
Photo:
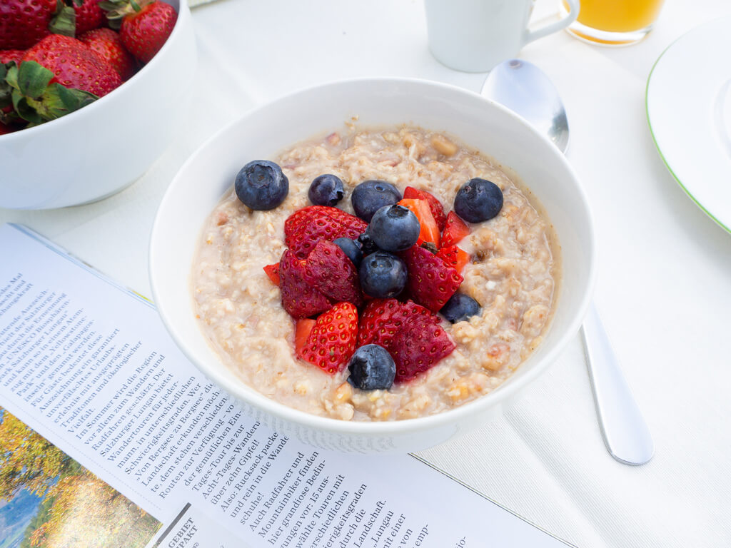
<path fill-rule="evenodd" d="M 306 259 L 319 240 L 357 238 L 368 224 L 338 208 L 311 205 L 292 213 L 284 221 L 284 241 L 299 259 Z"/>

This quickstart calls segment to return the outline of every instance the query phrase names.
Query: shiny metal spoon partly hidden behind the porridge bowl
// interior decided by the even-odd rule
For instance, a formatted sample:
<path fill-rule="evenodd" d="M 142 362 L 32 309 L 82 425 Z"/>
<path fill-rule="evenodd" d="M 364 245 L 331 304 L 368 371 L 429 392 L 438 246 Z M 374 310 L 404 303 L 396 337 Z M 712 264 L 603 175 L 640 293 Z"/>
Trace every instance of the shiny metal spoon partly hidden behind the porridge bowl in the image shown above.
<path fill-rule="evenodd" d="M 502 62 L 488 75 L 482 95 L 525 118 L 566 153 L 569 147 L 566 109 L 553 83 L 537 66 L 520 59 Z M 593 302 L 581 334 L 596 415 L 608 451 L 620 463 L 647 463 L 655 451 L 650 429 L 622 375 Z"/>

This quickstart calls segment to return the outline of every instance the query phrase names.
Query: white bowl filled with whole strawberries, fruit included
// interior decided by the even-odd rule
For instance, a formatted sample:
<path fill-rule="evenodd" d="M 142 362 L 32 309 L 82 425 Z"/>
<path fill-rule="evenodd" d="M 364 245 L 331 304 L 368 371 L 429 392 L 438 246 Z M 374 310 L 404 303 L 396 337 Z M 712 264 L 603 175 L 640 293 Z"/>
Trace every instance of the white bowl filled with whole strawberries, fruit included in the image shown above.
<path fill-rule="evenodd" d="M 185 2 L 2 2 L 0 208 L 94 202 L 139 178 L 182 122 L 195 62 Z"/>

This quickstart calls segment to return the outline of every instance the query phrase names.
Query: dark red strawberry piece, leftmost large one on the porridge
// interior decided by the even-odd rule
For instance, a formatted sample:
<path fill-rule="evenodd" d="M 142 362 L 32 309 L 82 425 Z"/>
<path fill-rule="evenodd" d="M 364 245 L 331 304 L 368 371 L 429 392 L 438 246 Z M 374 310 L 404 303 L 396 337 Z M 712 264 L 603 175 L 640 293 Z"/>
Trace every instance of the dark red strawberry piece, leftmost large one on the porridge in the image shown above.
<path fill-rule="evenodd" d="M 294 318 L 306 318 L 330 308 L 330 301 L 305 279 L 304 261 L 285 250 L 279 260 L 281 305 Z"/>

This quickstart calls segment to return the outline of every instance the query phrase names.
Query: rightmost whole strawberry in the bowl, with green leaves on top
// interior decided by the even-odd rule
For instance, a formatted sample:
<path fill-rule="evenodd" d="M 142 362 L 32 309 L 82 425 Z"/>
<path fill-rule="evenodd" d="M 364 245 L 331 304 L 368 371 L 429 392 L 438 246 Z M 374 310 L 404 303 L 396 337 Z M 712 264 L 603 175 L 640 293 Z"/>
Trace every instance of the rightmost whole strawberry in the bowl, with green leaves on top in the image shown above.
<path fill-rule="evenodd" d="M 170 36 L 178 12 L 157 0 L 109 0 L 99 4 L 107 10 L 110 26 L 119 28 L 124 47 L 148 63 Z"/>

